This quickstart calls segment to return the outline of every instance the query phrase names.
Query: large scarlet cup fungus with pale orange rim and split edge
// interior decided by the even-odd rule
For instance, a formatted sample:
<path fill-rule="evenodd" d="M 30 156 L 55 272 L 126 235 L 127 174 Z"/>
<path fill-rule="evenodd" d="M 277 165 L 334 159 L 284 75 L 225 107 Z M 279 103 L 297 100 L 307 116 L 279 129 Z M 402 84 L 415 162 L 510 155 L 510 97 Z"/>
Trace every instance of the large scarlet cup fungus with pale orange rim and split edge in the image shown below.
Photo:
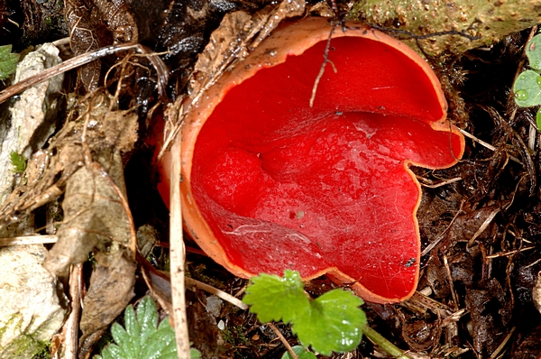
<path fill-rule="evenodd" d="M 283 25 L 202 97 L 182 128 L 185 227 L 235 275 L 327 274 L 365 300 L 416 290 L 421 189 L 410 165 L 463 155 L 436 75 L 404 43 L 307 18 Z M 161 162 L 169 199 L 170 158 Z"/>

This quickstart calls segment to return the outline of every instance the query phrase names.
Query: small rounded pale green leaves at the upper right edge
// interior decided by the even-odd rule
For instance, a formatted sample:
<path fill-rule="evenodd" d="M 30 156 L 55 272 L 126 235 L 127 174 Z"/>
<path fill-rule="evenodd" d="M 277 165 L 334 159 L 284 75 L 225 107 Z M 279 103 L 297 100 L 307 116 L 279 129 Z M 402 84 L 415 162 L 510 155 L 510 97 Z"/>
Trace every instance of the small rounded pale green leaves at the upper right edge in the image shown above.
<path fill-rule="evenodd" d="M 521 107 L 541 105 L 541 34 L 527 43 L 526 56 L 531 69 L 518 75 L 513 92 L 515 101 Z M 541 129 L 541 107 L 536 115 L 537 129 Z"/>

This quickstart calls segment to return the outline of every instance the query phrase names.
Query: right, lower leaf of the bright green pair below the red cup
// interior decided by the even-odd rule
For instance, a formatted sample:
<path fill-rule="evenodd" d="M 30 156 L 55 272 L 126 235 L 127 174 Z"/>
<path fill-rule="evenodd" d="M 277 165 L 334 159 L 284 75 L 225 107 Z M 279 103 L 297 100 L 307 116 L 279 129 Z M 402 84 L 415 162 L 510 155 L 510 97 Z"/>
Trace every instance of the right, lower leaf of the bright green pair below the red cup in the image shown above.
<path fill-rule="evenodd" d="M 312 345 L 321 354 L 353 350 L 362 338 L 366 316 L 362 299 L 345 290 L 331 290 L 310 302 L 309 310 L 292 323 L 302 345 Z"/>

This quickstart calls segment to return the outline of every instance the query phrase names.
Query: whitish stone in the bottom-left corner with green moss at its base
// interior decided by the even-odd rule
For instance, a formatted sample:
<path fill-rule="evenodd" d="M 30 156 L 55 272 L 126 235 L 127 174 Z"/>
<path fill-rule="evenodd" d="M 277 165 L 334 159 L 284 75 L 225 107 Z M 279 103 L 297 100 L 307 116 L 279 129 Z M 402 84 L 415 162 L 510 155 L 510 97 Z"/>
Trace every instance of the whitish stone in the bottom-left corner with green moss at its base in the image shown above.
<path fill-rule="evenodd" d="M 0 248 L 0 359 L 31 358 L 66 316 L 41 244 Z"/>

